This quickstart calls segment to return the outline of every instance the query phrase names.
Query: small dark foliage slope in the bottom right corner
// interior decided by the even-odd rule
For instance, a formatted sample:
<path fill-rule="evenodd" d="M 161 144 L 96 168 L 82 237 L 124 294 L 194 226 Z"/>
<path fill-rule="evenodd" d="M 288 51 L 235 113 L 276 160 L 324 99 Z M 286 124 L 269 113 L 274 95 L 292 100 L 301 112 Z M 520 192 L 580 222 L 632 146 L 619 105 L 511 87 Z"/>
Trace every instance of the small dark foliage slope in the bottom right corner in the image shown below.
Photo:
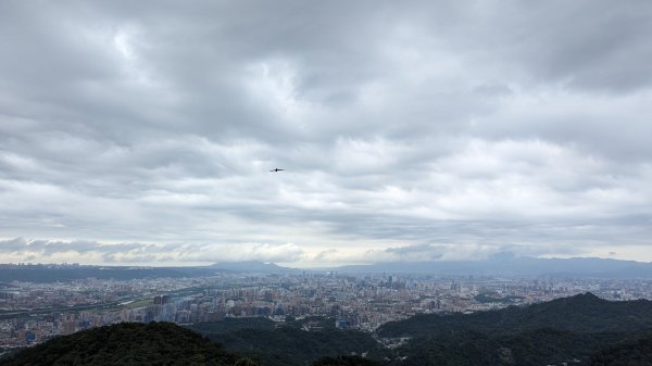
<path fill-rule="evenodd" d="M 649 366 L 652 365 L 652 333 L 630 338 L 595 352 L 591 366 Z"/>

